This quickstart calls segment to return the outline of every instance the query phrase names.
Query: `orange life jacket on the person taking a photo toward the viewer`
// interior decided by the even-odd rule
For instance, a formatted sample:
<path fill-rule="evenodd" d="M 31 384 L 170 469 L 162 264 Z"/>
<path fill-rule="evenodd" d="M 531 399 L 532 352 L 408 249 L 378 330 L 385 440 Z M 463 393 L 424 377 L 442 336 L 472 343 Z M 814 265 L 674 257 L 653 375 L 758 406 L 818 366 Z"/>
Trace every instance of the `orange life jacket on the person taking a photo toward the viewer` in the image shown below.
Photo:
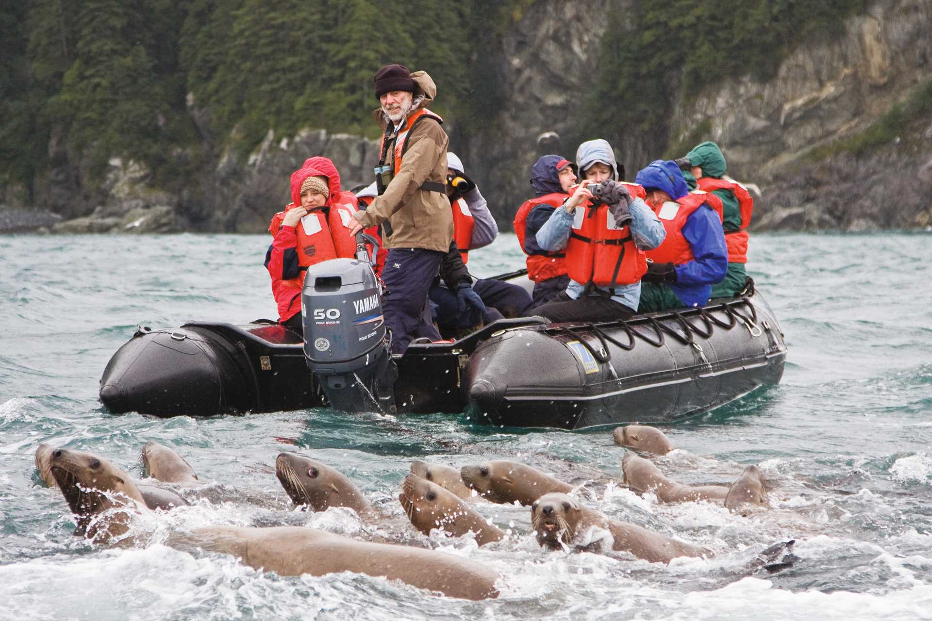
<path fill-rule="evenodd" d="M 569 194 L 575 191 L 575 187 L 570 188 Z M 576 208 L 573 216 L 566 256 L 570 278 L 606 288 L 640 281 L 647 272 L 647 258 L 644 250 L 635 245 L 630 226 L 615 228 L 609 206 L 594 207 L 588 200 Z"/>

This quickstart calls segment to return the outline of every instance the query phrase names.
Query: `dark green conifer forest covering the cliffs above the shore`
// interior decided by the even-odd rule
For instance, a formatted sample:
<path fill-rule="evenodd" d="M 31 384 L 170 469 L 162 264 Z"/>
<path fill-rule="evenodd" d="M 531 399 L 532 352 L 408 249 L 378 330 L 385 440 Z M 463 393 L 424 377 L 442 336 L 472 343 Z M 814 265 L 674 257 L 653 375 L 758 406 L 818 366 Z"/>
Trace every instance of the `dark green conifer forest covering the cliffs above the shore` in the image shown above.
<path fill-rule="evenodd" d="M 388 62 L 432 74 L 444 93 L 438 112 L 478 131 L 507 103 L 495 66 L 502 36 L 546 4 L 7 0 L 0 184 L 29 193 L 53 164 L 50 143 L 66 144 L 89 178 L 120 155 L 146 163 L 166 187 L 184 183 L 204 139 L 190 105 L 210 111 L 214 142 L 243 151 L 269 128 L 373 137 L 372 75 Z M 863 8 L 863 0 L 610 3 L 580 133 L 612 142 L 632 129 L 665 134 L 682 89 L 730 74 L 770 77 L 806 37 L 837 32 Z"/>

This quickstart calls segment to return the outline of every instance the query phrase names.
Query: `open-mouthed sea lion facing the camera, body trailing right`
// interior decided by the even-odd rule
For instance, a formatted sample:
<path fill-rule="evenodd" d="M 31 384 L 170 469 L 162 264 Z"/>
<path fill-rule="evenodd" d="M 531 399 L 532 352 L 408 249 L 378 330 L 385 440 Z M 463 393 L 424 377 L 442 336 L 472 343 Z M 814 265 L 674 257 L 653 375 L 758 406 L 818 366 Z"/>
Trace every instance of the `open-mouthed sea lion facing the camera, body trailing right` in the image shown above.
<path fill-rule="evenodd" d="M 677 557 L 706 557 L 711 552 L 624 521 L 609 520 L 565 493 L 547 493 L 530 508 L 531 527 L 541 546 L 563 545 L 586 551 L 630 552 L 638 559 L 665 562 Z M 561 545 L 562 544 L 562 545 Z"/>

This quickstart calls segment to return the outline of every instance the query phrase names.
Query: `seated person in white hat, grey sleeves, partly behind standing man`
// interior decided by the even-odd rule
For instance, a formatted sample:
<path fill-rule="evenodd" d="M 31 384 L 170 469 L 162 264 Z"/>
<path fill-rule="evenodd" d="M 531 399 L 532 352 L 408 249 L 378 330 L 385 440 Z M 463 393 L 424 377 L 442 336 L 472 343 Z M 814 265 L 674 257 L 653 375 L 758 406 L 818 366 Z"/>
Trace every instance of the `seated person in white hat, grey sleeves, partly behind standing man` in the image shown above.
<path fill-rule="evenodd" d="M 531 305 L 526 290 L 490 278 L 473 280 L 466 269 L 469 251 L 491 244 L 499 235 L 499 226 L 488 210 L 486 198 L 466 175 L 459 156 L 447 151 L 446 167 L 454 240 L 429 294 L 437 325 L 446 334 L 458 334 L 502 317 L 523 317 Z"/>

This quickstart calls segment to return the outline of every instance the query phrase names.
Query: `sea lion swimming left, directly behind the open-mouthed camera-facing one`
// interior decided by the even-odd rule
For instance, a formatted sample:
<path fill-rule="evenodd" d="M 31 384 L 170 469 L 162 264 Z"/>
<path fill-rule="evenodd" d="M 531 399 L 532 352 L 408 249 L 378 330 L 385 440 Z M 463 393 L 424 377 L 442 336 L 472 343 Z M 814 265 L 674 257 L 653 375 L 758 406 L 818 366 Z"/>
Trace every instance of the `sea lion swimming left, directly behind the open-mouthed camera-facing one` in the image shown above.
<path fill-rule="evenodd" d="M 500 459 L 463 466 L 459 477 L 480 496 L 493 503 L 528 506 L 545 493 L 569 493 L 573 486 L 518 462 Z"/>

